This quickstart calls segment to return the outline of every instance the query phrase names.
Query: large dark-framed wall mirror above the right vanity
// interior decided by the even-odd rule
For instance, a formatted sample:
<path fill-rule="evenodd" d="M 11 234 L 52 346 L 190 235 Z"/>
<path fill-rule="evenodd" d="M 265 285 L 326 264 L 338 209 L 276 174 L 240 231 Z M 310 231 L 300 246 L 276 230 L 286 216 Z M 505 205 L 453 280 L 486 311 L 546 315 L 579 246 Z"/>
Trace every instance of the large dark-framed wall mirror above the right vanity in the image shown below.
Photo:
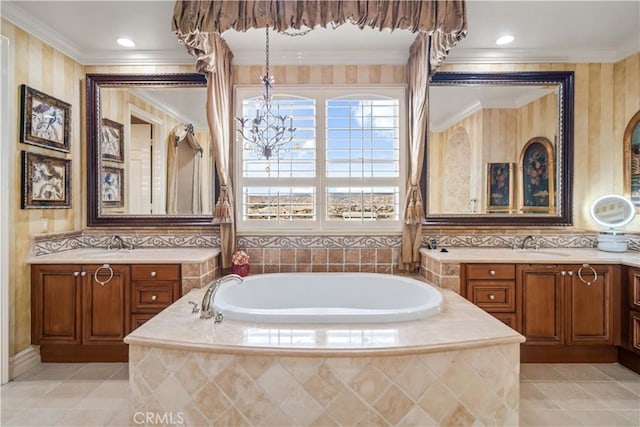
<path fill-rule="evenodd" d="M 571 225 L 573 91 L 573 72 L 433 74 L 422 175 L 425 224 Z M 529 158 L 523 164 L 531 140 L 550 142 L 549 169 L 531 168 Z M 527 209 L 520 200 L 528 188 L 525 170 L 553 177 L 547 208 Z M 494 177 L 495 171 L 503 173 Z"/>

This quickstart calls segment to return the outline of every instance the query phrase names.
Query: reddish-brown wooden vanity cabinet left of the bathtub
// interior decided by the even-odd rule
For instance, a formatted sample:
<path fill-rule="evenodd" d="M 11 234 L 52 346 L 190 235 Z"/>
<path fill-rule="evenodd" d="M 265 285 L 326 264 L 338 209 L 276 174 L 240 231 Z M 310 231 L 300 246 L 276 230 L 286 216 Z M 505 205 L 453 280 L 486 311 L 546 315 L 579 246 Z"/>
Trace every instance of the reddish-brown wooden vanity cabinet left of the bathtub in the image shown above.
<path fill-rule="evenodd" d="M 34 264 L 32 344 L 43 362 L 127 361 L 124 337 L 178 299 L 180 284 L 177 264 Z"/>

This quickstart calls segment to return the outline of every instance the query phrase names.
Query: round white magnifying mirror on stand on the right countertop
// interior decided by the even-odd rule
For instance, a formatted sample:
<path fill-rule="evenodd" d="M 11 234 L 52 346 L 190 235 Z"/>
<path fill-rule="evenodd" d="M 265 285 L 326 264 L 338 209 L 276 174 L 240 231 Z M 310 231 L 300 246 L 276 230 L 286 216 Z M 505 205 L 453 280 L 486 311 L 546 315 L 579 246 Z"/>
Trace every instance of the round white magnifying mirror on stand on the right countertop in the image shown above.
<path fill-rule="evenodd" d="M 590 212 L 591 218 L 607 229 L 598 236 L 598 249 L 606 252 L 626 251 L 628 239 L 624 234 L 618 234 L 617 229 L 629 224 L 636 215 L 631 200 L 617 195 L 602 196 L 593 202 Z"/>

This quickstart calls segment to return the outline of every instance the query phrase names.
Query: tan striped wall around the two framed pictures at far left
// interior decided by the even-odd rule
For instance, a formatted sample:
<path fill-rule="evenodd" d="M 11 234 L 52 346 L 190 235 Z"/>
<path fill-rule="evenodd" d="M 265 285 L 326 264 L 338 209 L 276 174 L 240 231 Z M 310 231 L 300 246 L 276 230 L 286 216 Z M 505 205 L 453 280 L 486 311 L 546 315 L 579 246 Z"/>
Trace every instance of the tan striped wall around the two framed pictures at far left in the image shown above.
<path fill-rule="evenodd" d="M 9 58 L 12 63 L 10 79 L 13 87 L 9 105 L 9 139 L 15 141 L 8 155 L 13 159 L 12 208 L 10 213 L 9 239 L 9 353 L 14 355 L 30 344 L 30 276 L 25 264 L 29 251 L 29 238 L 43 231 L 60 232 L 79 229 L 82 225 L 83 186 L 80 165 L 81 148 L 81 104 L 80 81 L 84 68 L 57 50 L 44 44 L 7 21 L 2 21 L 2 35 L 9 39 Z M 11 71 L 10 71 L 11 73 Z M 18 123 L 20 117 L 20 85 L 26 84 L 34 89 L 54 96 L 72 105 L 70 143 L 71 153 L 48 150 L 19 142 Z M 71 209 L 20 209 L 21 167 L 20 152 L 29 151 L 49 156 L 71 159 L 72 193 Z M 41 219 L 48 221 L 44 230 Z"/>

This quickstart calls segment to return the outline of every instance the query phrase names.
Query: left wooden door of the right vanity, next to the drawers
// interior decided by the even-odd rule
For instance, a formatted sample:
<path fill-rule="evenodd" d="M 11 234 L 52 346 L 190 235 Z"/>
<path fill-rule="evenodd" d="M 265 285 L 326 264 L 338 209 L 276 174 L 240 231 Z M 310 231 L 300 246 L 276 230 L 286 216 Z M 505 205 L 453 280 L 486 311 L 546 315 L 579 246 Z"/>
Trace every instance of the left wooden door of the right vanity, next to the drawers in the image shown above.
<path fill-rule="evenodd" d="M 561 268 L 523 264 L 517 267 L 518 308 L 525 344 L 562 345 L 564 328 Z"/>

